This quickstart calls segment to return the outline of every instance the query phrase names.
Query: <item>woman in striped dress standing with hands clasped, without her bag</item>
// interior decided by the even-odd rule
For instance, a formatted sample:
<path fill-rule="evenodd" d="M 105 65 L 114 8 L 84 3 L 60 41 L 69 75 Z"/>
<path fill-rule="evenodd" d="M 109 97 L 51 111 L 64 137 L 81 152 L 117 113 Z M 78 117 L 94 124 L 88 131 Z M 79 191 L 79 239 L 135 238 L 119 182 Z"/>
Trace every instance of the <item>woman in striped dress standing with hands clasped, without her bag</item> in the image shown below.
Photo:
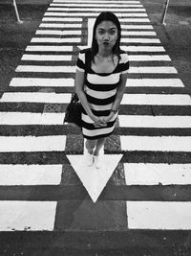
<path fill-rule="evenodd" d="M 120 24 L 113 12 L 101 12 L 93 30 L 92 47 L 80 51 L 76 62 L 75 92 L 83 106 L 82 133 L 87 165 L 100 168 L 99 151 L 117 120 L 129 69 L 129 60 L 119 48 Z"/>

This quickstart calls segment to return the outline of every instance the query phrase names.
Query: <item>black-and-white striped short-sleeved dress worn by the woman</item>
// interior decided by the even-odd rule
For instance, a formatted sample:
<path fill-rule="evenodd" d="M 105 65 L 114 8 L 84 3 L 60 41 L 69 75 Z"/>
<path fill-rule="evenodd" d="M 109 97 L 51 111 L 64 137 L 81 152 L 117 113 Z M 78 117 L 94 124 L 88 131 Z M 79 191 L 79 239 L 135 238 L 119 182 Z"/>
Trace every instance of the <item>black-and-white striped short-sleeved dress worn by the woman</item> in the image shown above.
<path fill-rule="evenodd" d="M 112 73 L 96 73 L 91 67 L 91 49 L 79 52 L 76 69 L 85 72 L 84 92 L 87 101 L 96 116 L 108 116 L 117 95 L 120 75 L 128 72 L 129 59 L 125 52 L 120 52 L 117 67 Z M 117 113 L 107 123 L 107 127 L 95 128 L 94 121 L 82 109 L 82 134 L 86 139 L 99 139 L 111 135 L 114 131 Z"/>

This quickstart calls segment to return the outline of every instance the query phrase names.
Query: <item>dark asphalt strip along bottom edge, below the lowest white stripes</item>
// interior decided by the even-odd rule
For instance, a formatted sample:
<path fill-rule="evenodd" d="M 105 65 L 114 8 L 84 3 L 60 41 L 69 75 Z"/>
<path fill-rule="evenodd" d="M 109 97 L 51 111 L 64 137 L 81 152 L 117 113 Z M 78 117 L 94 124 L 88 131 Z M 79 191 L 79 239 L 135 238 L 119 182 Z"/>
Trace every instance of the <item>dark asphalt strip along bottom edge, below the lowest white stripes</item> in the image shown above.
<path fill-rule="evenodd" d="M 189 241 L 190 231 L 177 230 L 128 230 L 128 231 L 44 231 L 44 232 L 2 232 L 0 240 L 2 248 L 13 251 L 24 251 L 30 248 L 31 253 L 39 248 L 63 249 L 68 250 L 72 256 L 90 256 L 90 255 L 114 255 L 114 256 L 180 256 L 175 254 L 174 249 L 184 248 L 184 251 L 190 252 Z M 185 244 L 187 241 L 187 244 Z M 17 245 L 15 245 L 17 244 Z M 38 244 L 38 245 L 37 245 Z M 180 244 L 180 245 L 178 245 Z M 9 246 L 6 246 L 9 245 Z M 38 247 L 38 250 L 37 250 Z M 187 247 L 187 249 L 186 249 Z M 28 252 L 30 252 L 28 250 Z M 22 250 L 21 250 L 22 251 Z M 56 252 L 56 251 L 55 251 Z M 59 251 L 58 251 L 59 252 Z M 129 254 L 129 253 L 130 254 Z M 94 254 L 92 254 L 94 253 Z M 145 253 L 145 254 L 142 254 Z M 157 253 L 157 254 L 155 254 Z M 13 254 L 4 254 L 13 255 Z M 19 254 L 20 255 L 20 254 Z M 22 255 L 22 254 L 21 254 Z M 24 255 L 50 255 L 57 254 L 24 254 Z M 189 256 L 189 254 L 184 254 Z"/>

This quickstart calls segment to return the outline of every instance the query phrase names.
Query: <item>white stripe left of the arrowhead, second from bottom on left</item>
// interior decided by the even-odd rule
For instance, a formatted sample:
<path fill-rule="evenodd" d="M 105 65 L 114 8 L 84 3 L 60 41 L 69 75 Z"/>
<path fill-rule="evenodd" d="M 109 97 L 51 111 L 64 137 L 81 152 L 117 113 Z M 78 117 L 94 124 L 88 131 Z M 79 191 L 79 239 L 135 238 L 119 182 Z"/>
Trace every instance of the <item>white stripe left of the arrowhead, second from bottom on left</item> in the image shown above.
<path fill-rule="evenodd" d="M 62 165 L 0 165 L 0 186 L 59 185 Z"/>

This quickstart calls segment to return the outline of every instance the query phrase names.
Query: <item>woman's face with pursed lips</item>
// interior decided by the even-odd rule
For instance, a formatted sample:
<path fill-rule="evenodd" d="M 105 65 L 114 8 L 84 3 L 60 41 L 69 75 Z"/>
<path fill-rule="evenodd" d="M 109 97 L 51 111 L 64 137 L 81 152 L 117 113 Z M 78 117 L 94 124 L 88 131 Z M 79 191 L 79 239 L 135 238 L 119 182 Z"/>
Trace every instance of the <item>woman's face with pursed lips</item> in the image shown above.
<path fill-rule="evenodd" d="M 112 21 L 102 21 L 96 27 L 96 41 L 101 49 L 112 50 L 117 42 L 117 36 L 117 26 Z"/>

